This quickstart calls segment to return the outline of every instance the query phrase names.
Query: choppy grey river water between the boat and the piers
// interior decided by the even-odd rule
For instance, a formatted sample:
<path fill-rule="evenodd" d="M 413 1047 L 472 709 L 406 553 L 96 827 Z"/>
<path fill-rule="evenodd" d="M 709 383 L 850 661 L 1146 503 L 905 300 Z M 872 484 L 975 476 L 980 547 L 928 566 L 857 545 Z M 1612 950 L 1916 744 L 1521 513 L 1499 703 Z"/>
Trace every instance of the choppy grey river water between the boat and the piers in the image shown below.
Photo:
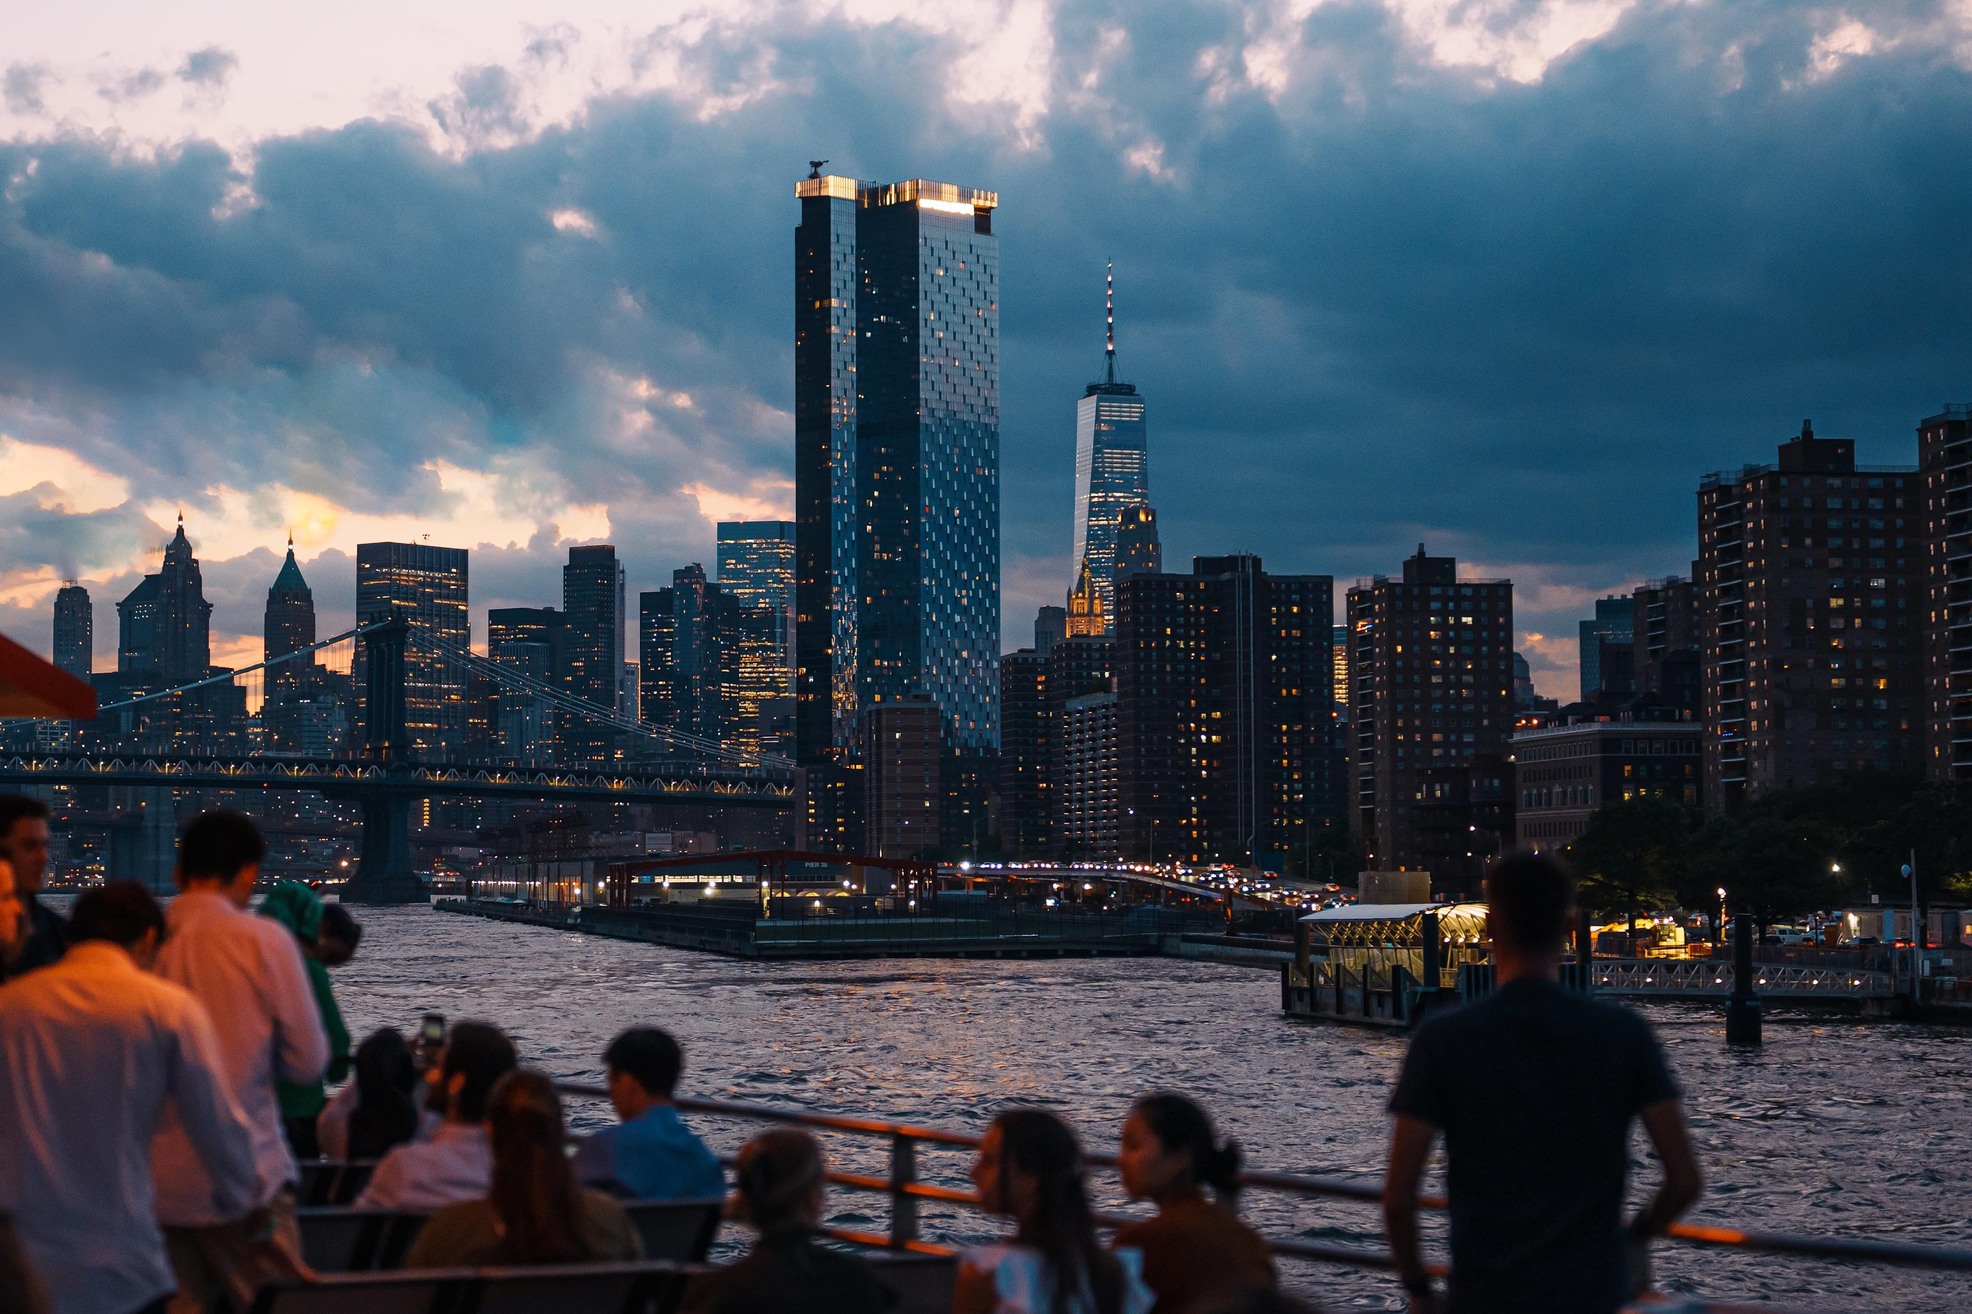
<path fill-rule="evenodd" d="M 1205 1101 L 1258 1168 L 1376 1180 L 1388 1085 L 1402 1038 L 1288 1022 L 1276 977 L 1173 959 L 741 963 L 426 908 L 361 910 L 361 955 L 335 973 L 349 1028 L 406 1030 L 426 1011 L 501 1022 L 523 1062 L 599 1080 L 617 1030 L 649 1022 L 686 1052 L 682 1093 L 978 1129 L 1012 1103 L 1055 1107 L 1087 1145 L 1114 1149 L 1138 1093 L 1165 1085 Z M 1972 1245 L 1972 1032 L 1769 1020 L 1767 1044 L 1729 1054 L 1724 1020 L 1649 1009 L 1686 1087 L 1708 1176 L 1696 1221 L 1771 1231 Z M 572 1101 L 578 1129 L 599 1103 Z M 741 1123 L 698 1119 L 716 1149 Z M 852 1137 L 830 1150 L 881 1172 Z M 966 1158 L 923 1150 L 921 1172 L 960 1182 Z M 1655 1184 L 1641 1133 L 1639 1192 Z M 1114 1176 L 1096 1196 L 1120 1206 Z M 840 1225 L 881 1227 L 881 1198 L 836 1192 Z M 1367 1206 L 1252 1192 L 1262 1231 L 1380 1245 Z M 929 1239 L 978 1241 L 990 1221 L 925 1210 Z M 1374 1273 L 1286 1261 L 1323 1308 L 1398 1310 Z M 1656 1249 L 1658 1284 L 1791 1308 L 1962 1310 L 1964 1275 Z"/>

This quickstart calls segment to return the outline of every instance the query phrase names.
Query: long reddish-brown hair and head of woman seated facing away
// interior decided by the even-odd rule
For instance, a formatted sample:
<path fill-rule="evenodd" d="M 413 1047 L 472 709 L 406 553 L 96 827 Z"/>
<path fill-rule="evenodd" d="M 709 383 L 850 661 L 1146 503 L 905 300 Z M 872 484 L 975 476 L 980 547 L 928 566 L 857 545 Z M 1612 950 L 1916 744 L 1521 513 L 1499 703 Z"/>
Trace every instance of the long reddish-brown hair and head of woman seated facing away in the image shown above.
<path fill-rule="evenodd" d="M 501 1223 L 501 1259 L 523 1265 L 590 1259 L 576 1227 L 580 1196 L 554 1082 L 532 1068 L 509 1072 L 487 1097 L 485 1115 L 493 1141 L 487 1200 Z"/>

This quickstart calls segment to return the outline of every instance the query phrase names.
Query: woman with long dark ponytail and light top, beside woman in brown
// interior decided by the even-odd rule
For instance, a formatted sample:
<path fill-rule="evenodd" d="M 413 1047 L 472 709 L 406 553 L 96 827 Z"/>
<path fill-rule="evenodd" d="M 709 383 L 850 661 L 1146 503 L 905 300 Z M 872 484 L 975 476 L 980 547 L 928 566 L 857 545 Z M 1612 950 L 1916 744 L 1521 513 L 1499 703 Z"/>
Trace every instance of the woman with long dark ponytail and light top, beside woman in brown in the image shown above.
<path fill-rule="evenodd" d="M 1014 1241 L 958 1265 L 952 1314 L 1148 1314 L 1144 1255 L 1096 1241 L 1083 1150 L 1053 1113 L 1012 1109 L 986 1129 L 972 1184 Z"/>

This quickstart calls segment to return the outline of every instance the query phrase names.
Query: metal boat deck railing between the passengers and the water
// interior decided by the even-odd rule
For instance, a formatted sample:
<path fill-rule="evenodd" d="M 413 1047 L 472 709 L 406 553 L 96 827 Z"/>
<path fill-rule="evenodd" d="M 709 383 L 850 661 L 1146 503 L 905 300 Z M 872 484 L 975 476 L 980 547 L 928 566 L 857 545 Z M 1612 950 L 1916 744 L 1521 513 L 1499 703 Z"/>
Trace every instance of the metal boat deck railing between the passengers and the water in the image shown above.
<path fill-rule="evenodd" d="M 582 1084 L 560 1084 L 564 1095 L 582 1095 L 607 1099 L 609 1091 L 601 1085 L 582 1085 Z M 939 1245 L 935 1241 L 923 1239 L 919 1231 L 919 1202 L 931 1200 L 939 1204 L 956 1204 L 980 1208 L 980 1198 L 976 1192 L 958 1190 L 951 1186 L 937 1186 L 925 1182 L 919 1176 L 917 1150 L 925 1149 L 949 1149 L 949 1150 L 970 1150 L 978 1149 L 980 1137 L 964 1131 L 945 1131 L 939 1127 L 915 1127 L 909 1123 L 891 1123 L 885 1119 L 870 1117 L 846 1117 L 838 1113 L 809 1113 L 803 1109 L 783 1109 L 775 1105 L 759 1103 L 740 1103 L 732 1099 L 690 1099 L 678 1097 L 676 1107 L 686 1113 L 702 1113 L 708 1117 L 741 1119 L 755 1123 L 781 1123 L 791 1127 L 809 1127 L 812 1131 L 832 1131 L 856 1137 L 881 1139 L 889 1143 L 889 1172 L 887 1176 L 870 1176 L 858 1172 L 830 1172 L 828 1182 L 846 1190 L 872 1192 L 889 1196 L 889 1231 L 858 1231 L 848 1227 L 828 1229 L 840 1241 L 854 1245 L 870 1245 L 883 1249 L 917 1251 L 923 1255 L 951 1255 L 952 1247 Z M 1085 1158 L 1091 1164 L 1102 1168 L 1114 1168 L 1116 1156 L 1102 1152 L 1087 1152 Z M 1315 1196 L 1327 1200 L 1353 1200 L 1359 1204 L 1380 1204 L 1382 1186 L 1369 1182 L 1351 1182 L 1343 1178 L 1309 1176 L 1298 1172 L 1242 1172 L 1238 1178 L 1240 1190 L 1268 1190 L 1286 1192 L 1292 1196 Z M 1444 1210 L 1444 1196 L 1424 1196 L 1420 1204 L 1426 1210 Z M 1098 1215 L 1102 1225 L 1114 1227 L 1118 1223 L 1132 1221 L 1120 1215 Z M 1871 1237 L 1808 1237 L 1791 1235 L 1775 1231 L 1743 1231 L 1737 1227 L 1708 1227 L 1700 1223 L 1672 1223 L 1666 1233 L 1668 1241 L 1708 1247 L 1708 1249 L 1727 1249 L 1727 1251 L 1749 1251 L 1763 1255 L 1791 1255 L 1796 1259 L 1818 1259 L 1832 1263 L 1867 1263 L 1867 1265 L 1891 1265 L 1903 1269 L 1931 1269 L 1931 1271 L 1958 1271 L 1972 1273 L 1972 1249 L 1954 1249 L 1942 1245 L 1913 1245 L 1907 1241 L 1879 1241 Z M 1349 1245 L 1329 1245 L 1323 1241 L 1305 1241 L 1298 1237 L 1266 1237 L 1268 1249 L 1276 1255 L 1292 1259 L 1307 1259 L 1319 1263 L 1349 1265 L 1355 1269 L 1394 1269 L 1394 1261 L 1388 1251 L 1369 1251 Z M 1444 1267 L 1432 1267 L 1432 1273 L 1444 1277 Z M 1716 1304 L 1716 1302 L 1692 1302 L 1686 1300 L 1674 1308 L 1698 1314 L 1700 1310 L 1710 1310 L 1712 1314 L 1729 1314 L 1739 1306 Z M 1765 1314 L 1785 1314 L 1775 1310 L 1771 1304 L 1759 1306 Z"/>

